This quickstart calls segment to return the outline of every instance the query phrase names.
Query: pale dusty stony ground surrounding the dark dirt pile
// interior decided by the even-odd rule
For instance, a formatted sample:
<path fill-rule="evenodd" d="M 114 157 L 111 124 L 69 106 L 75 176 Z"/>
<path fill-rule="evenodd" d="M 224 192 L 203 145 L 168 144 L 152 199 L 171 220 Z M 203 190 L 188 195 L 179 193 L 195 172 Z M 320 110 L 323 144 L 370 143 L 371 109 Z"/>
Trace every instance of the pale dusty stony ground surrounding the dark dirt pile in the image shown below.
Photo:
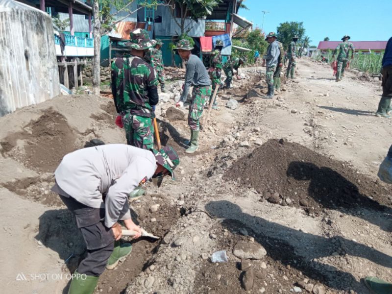
<path fill-rule="evenodd" d="M 97 293 L 121 293 L 125 288 L 129 294 L 245 293 L 240 260 L 232 253 L 238 241 L 255 242 L 267 250 L 263 260 L 251 261 L 254 281 L 249 293 L 290 293 L 297 282 L 305 280 L 308 285 L 324 285 L 326 293 L 368 294 L 361 282 L 364 276 L 392 280 L 391 195 L 385 195 L 383 203 L 389 207 L 385 210 L 321 207 L 319 214 L 308 214 L 292 205 L 261 201 L 263 192 L 237 178 L 223 179 L 233 163 L 259 144 L 285 137 L 383 185 L 376 172 L 392 143 L 392 120 L 373 114 L 381 94 L 379 82 L 362 82 L 347 73 L 336 83 L 327 65 L 303 58 L 298 62 L 298 78 L 284 86 L 286 91 L 265 100 L 249 92 L 265 92 L 254 70 L 248 72 L 251 80 L 235 81 L 233 90 L 220 93 L 221 109 L 213 112 L 208 131 L 201 133 L 196 154 L 187 155 L 180 147 L 179 138 L 189 136 L 186 121 L 161 123 L 164 143 L 175 146 L 181 155 L 178 180 L 165 181 L 159 190 L 148 186 L 147 195 L 132 203 L 132 208 L 135 220 L 164 238 L 159 243 L 135 243 L 131 258 L 102 275 Z M 239 100 L 236 110 L 224 107 L 228 98 Z M 71 253 L 81 254 L 83 247 L 70 216 L 51 198 L 55 196 L 47 195 L 48 166 L 34 170 L 32 163 L 40 162 L 25 156 L 26 145 L 40 142 L 28 136 L 29 121 L 39 120 L 51 106 L 71 127 L 75 148 L 93 137 L 107 143 L 124 142 L 123 133 L 112 126 L 108 100 L 64 101 L 54 99 L 0 119 L 1 125 L 7 125 L 1 128 L 0 141 L 14 144 L 3 143 L 0 156 L 6 168 L 0 173 L 0 205 L 7 208 L 0 215 L 1 247 L 5 248 L 0 253 L 0 281 L 6 293 L 62 293 L 65 278 L 27 277 L 26 281 L 16 280 L 17 274 L 66 274 L 72 266 L 64 266 L 64 260 Z M 165 110 L 172 104 L 161 103 L 159 108 Z M 16 138 L 15 132 L 19 132 Z M 69 138 L 69 134 L 59 136 Z M 41 139 L 50 145 L 47 137 Z M 241 146 L 245 140 L 249 147 Z M 40 193 L 46 195 L 45 201 Z M 153 203 L 162 205 L 156 215 L 148 212 Z M 157 221 L 151 222 L 152 218 Z M 243 236 L 243 229 L 253 237 Z M 216 250 L 227 250 L 229 262 L 212 264 L 209 257 Z"/>

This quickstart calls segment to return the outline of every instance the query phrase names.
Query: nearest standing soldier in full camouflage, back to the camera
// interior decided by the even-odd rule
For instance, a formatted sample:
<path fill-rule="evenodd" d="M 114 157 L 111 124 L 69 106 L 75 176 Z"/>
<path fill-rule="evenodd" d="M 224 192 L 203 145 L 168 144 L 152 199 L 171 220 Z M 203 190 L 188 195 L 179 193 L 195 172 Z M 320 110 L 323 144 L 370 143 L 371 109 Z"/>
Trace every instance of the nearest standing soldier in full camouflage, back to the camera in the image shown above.
<path fill-rule="evenodd" d="M 112 93 L 117 113 L 121 116 L 129 145 L 152 149 L 152 119 L 158 103 L 158 81 L 154 69 L 143 57 L 155 45 L 144 29 L 130 33 L 131 52 L 112 63 Z"/>

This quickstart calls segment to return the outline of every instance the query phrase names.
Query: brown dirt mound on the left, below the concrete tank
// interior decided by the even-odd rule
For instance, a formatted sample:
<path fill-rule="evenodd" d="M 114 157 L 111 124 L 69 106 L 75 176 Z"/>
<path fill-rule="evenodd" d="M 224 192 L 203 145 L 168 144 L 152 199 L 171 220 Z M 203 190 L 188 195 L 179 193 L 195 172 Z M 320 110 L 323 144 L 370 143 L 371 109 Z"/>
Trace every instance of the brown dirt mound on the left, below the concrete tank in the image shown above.
<path fill-rule="evenodd" d="M 76 135 L 67 119 L 49 108 L 22 132 L 11 133 L 0 142 L 2 154 L 40 172 L 53 172 L 63 156 L 75 149 Z"/>

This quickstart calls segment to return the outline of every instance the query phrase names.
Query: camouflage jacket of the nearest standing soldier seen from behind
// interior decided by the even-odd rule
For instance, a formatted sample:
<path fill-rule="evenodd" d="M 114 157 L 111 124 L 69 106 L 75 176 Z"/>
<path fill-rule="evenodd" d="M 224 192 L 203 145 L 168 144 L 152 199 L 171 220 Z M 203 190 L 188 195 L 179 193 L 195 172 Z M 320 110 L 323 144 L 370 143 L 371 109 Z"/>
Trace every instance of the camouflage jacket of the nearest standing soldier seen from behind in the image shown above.
<path fill-rule="evenodd" d="M 157 86 L 155 70 L 142 58 L 126 55 L 112 63 L 112 93 L 118 113 L 151 117 L 149 91 Z"/>

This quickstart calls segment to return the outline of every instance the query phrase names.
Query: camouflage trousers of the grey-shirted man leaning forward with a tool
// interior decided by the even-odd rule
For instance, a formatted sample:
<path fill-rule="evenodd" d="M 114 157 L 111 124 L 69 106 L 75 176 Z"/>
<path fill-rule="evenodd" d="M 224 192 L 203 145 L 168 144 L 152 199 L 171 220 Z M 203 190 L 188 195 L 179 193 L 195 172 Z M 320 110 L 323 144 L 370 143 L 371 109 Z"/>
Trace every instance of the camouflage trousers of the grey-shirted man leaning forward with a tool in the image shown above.
<path fill-rule="evenodd" d="M 192 91 L 191 105 L 189 105 L 188 125 L 194 130 L 200 129 L 200 117 L 204 105 L 211 96 L 211 86 L 194 86 Z"/>

